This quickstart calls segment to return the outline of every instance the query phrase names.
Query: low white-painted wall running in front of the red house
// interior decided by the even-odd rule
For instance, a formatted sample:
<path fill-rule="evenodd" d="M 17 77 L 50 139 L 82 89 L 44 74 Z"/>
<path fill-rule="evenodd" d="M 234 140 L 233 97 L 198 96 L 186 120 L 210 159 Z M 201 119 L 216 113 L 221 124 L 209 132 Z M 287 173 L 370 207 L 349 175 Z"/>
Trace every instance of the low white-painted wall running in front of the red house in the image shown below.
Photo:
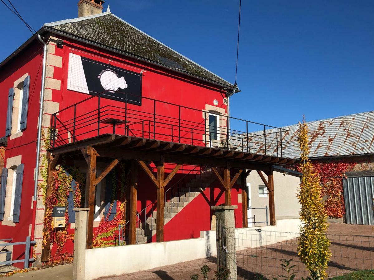
<path fill-rule="evenodd" d="M 299 225 L 300 221 L 298 219 L 289 219 L 278 220 L 277 225 L 274 226 L 256 228 L 261 228 L 263 236 L 265 232 L 277 232 L 274 234 L 278 237 L 267 241 L 275 243 L 294 238 L 292 237 L 294 234 L 286 233 L 298 233 Z M 284 232 L 285 234 L 278 234 L 278 232 Z M 85 279 L 91 280 L 103 276 L 133 273 L 217 255 L 215 231 L 202 231 L 200 236 L 200 238 L 162 243 L 154 242 L 86 250 Z M 248 246 L 246 248 L 261 246 L 260 240 L 264 240 L 260 233 L 254 231 L 254 227 L 237 228 L 236 236 L 237 250 L 242 250 L 244 246 Z M 246 242 L 245 239 L 251 240 L 251 242 Z M 257 239 L 258 242 L 252 241 Z"/>

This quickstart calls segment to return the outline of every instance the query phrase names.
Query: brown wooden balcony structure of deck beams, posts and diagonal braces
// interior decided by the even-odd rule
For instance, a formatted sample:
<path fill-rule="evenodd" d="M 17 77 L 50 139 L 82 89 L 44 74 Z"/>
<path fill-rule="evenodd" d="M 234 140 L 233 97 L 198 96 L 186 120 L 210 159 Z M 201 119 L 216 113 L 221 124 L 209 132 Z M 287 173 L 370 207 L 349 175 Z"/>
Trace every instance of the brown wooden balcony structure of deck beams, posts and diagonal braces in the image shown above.
<path fill-rule="evenodd" d="M 171 178 L 178 172 L 182 164 L 209 166 L 217 176 L 218 182 L 225 192 L 225 204 L 231 205 L 231 188 L 237 179 L 242 178 L 242 213 L 243 227 L 248 227 L 247 221 L 247 189 L 246 177 L 251 170 L 256 170 L 269 189 L 270 224 L 275 224 L 273 169 L 275 164 L 292 164 L 294 161 L 276 156 L 258 155 L 236 150 L 201 147 L 181 143 L 172 143 L 139 137 L 119 136 L 106 134 L 91 139 L 59 146 L 48 151 L 48 186 L 51 184 L 52 171 L 59 156 L 65 154 L 75 160 L 87 162 L 86 201 L 88 207 L 87 249 L 92 248 L 93 237 L 93 212 L 95 205 L 95 186 L 105 175 L 110 172 L 122 159 L 131 160 L 131 180 L 129 186 L 129 243 L 135 244 L 136 215 L 137 215 L 137 189 L 138 168 L 142 168 L 155 185 L 157 191 L 157 227 L 156 240 L 163 242 L 163 209 L 165 202 L 165 187 Z M 107 167 L 96 177 L 96 162 L 107 162 Z M 157 177 L 150 171 L 149 162 L 154 162 L 157 167 Z M 165 174 L 164 163 L 175 163 L 176 167 Z M 223 177 L 216 168 L 223 168 Z M 235 170 L 233 176 L 230 169 Z M 264 178 L 262 172 L 268 176 Z M 48 187 L 49 189 L 49 187 Z M 48 192 L 47 192 L 48 195 Z M 42 261 L 49 258 L 49 244 L 43 248 Z"/>

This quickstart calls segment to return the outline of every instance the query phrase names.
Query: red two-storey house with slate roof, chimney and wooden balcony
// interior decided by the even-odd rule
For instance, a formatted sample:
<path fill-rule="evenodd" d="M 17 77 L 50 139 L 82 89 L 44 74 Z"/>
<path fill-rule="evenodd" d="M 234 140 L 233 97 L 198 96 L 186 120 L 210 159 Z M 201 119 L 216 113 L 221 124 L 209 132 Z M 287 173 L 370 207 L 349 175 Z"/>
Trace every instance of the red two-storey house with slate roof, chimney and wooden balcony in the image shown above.
<path fill-rule="evenodd" d="M 73 208 L 85 205 L 91 247 L 198 237 L 211 229 L 210 206 L 223 203 L 239 205 L 236 225 L 245 226 L 242 170 L 271 176 L 272 164 L 292 162 L 282 158 L 282 130 L 255 136 L 263 155 L 251 154 L 248 126 L 259 124 L 229 118 L 236 85 L 102 13 L 103 2 L 80 0 L 79 18 L 43 25 L 0 63 L 0 239 L 31 236 L 38 260 L 43 247 L 43 261 L 49 246 L 56 259 L 62 248 L 71 254 Z M 266 139 L 278 137 L 278 156 L 266 156 Z M 50 226 L 53 206 L 67 207 L 66 227 Z M 18 247 L 8 248 L 13 260 L 24 256 Z"/>

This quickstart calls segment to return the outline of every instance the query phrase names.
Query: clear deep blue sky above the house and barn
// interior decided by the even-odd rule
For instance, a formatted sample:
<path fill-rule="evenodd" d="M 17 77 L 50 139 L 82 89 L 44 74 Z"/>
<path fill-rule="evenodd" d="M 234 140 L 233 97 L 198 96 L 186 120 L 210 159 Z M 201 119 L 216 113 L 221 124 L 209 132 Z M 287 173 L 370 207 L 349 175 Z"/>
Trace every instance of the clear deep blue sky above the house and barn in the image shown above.
<path fill-rule="evenodd" d="M 7 0 L 5 0 L 7 1 Z M 78 0 L 12 1 L 34 29 Z M 111 12 L 234 82 L 239 0 L 107 0 Z M 0 3 L 0 60 L 30 31 Z M 282 126 L 374 110 L 374 1 L 242 0 L 232 116 Z"/>

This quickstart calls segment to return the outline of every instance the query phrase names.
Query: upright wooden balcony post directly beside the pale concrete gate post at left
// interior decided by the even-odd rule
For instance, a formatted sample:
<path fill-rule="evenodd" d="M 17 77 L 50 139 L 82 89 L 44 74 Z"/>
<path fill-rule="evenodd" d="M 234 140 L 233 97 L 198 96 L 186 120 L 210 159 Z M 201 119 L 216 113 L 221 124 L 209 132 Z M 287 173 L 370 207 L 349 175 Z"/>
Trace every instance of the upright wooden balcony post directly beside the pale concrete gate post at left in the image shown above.
<path fill-rule="evenodd" d="M 86 208 L 89 208 L 87 223 L 87 249 L 92 249 L 93 242 L 93 214 L 95 212 L 95 182 L 96 182 L 96 150 L 86 147 L 88 156 L 86 176 Z"/>

